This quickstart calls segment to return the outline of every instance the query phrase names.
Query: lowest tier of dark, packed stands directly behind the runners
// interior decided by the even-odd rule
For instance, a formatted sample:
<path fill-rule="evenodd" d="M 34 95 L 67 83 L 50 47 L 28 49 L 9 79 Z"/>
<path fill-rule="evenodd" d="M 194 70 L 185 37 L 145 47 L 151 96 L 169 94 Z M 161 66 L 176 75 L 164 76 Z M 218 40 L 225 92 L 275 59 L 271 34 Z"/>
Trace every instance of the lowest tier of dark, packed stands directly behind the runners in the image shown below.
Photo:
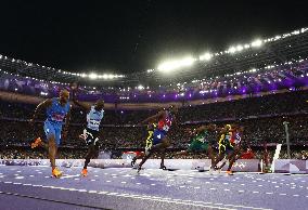
<path fill-rule="evenodd" d="M 267 143 L 285 143 L 285 127 L 284 121 L 288 122 L 288 133 L 291 144 L 305 145 L 308 140 L 308 120 L 307 115 L 292 115 L 287 117 L 262 117 L 249 118 L 242 120 L 222 120 L 213 121 L 219 127 L 226 123 L 238 123 L 244 127 L 243 143 L 245 145 L 262 145 Z M 191 139 L 187 133 L 187 129 L 193 129 L 202 124 L 208 123 L 189 123 L 181 124 L 179 130 L 171 128 L 168 133 L 172 147 L 187 147 Z M 27 121 L 22 119 L 0 119 L 0 136 L 1 143 L 5 145 L 22 144 L 29 145 L 31 141 L 40 136 L 44 139 L 43 124 L 36 123 L 35 128 L 30 127 Z M 85 146 L 85 142 L 79 139 L 79 135 L 85 129 L 84 124 L 70 124 L 67 139 L 62 141 L 62 145 L 66 146 Z M 144 127 L 103 127 L 100 132 L 102 148 L 140 148 L 145 146 L 147 136 Z M 219 134 L 211 136 L 218 140 Z"/>

